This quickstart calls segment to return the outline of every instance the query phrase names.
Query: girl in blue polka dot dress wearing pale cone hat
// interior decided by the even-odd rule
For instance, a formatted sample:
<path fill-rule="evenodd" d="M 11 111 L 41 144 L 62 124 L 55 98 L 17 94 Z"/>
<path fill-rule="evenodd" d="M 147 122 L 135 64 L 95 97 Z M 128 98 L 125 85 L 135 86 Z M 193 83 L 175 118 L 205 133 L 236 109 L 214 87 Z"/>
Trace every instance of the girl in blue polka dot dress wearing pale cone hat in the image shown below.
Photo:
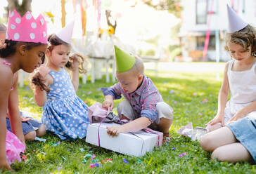
<path fill-rule="evenodd" d="M 34 99 L 37 105 L 44 106 L 42 123 L 47 131 L 55 133 L 61 140 L 84 138 L 89 124 L 88 107 L 76 95 L 79 72 L 85 72 L 82 67 L 84 58 L 78 54 L 69 57 L 72 34 L 67 38 L 71 30 L 68 27 L 63 28 L 68 32 L 49 36 L 46 64 L 41 65 L 32 77 Z M 72 72 L 71 79 L 65 66 Z"/>

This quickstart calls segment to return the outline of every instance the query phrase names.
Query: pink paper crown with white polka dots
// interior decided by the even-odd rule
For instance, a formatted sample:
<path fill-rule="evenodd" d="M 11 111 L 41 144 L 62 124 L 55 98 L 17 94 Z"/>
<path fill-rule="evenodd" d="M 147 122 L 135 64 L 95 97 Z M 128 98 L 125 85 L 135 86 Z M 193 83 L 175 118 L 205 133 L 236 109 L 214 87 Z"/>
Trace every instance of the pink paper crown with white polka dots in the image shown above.
<path fill-rule="evenodd" d="M 17 11 L 9 13 L 6 39 L 47 44 L 47 28 L 43 15 L 34 19 L 30 11 L 23 18 Z"/>

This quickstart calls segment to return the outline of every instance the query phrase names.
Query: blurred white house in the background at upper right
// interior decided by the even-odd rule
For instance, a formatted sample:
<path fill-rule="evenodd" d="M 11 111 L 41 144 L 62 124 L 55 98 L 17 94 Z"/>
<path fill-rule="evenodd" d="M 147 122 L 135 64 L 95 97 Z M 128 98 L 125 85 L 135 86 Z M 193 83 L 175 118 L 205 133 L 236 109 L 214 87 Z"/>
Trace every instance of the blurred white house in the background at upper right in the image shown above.
<path fill-rule="evenodd" d="M 226 2 L 241 18 L 255 26 L 255 0 L 181 0 L 183 11 L 179 38 L 182 60 L 230 60 L 229 53 L 224 50 L 228 25 Z M 207 40 L 208 46 L 205 46 Z"/>

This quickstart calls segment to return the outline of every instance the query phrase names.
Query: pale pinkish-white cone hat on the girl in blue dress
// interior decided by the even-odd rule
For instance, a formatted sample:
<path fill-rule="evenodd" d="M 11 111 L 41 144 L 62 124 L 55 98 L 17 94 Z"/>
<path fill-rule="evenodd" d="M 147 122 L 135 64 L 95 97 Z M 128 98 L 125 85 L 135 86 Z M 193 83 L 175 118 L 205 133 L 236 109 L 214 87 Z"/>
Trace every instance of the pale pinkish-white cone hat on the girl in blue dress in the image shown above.
<path fill-rule="evenodd" d="M 58 38 L 65 41 L 65 43 L 72 44 L 72 34 L 73 34 L 74 25 L 75 25 L 75 20 L 72 20 L 65 27 L 60 29 L 60 32 L 56 34 Z"/>

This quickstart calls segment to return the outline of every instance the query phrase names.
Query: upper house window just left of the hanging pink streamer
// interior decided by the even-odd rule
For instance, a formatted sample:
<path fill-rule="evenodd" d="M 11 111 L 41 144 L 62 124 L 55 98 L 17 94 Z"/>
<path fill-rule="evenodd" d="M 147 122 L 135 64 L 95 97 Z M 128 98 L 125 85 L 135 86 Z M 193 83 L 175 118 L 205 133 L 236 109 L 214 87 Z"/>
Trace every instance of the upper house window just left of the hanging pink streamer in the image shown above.
<path fill-rule="evenodd" d="M 207 22 L 207 0 L 196 0 L 196 24 Z"/>

